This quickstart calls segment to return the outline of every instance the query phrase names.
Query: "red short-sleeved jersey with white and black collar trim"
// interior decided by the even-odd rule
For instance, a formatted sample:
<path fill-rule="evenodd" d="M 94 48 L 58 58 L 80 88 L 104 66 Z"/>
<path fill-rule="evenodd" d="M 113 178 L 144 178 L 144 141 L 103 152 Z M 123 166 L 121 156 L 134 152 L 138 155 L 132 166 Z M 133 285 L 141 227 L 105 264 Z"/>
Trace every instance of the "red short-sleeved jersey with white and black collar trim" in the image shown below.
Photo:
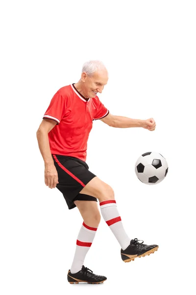
<path fill-rule="evenodd" d="M 97 95 L 85 98 L 74 84 L 60 88 L 43 117 L 57 122 L 48 134 L 51 154 L 76 157 L 85 162 L 93 120 L 108 114 Z"/>

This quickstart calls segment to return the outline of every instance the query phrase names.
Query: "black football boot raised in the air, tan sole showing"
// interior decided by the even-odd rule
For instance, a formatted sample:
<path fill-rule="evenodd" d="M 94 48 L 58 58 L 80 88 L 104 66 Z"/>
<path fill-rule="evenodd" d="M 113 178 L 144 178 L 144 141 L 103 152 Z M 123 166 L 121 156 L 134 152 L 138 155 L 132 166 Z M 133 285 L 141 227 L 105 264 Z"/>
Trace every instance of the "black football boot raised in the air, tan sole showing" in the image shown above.
<path fill-rule="evenodd" d="M 139 243 L 139 240 L 135 238 L 130 241 L 130 245 L 125 250 L 121 249 L 121 258 L 123 262 L 130 262 L 137 257 L 145 257 L 146 255 L 150 255 L 158 250 L 159 246 L 157 245 L 148 246 L 143 243 L 144 241 Z"/>

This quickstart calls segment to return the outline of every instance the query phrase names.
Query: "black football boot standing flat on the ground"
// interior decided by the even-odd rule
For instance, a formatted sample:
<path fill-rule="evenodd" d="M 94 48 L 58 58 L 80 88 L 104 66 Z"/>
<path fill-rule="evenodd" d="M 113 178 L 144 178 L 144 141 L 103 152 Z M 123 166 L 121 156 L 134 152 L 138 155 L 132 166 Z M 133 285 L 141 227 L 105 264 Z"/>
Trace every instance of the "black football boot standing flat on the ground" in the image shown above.
<path fill-rule="evenodd" d="M 105 276 L 97 275 L 93 273 L 91 269 L 84 266 L 82 266 L 82 269 L 76 273 L 71 273 L 69 269 L 67 279 L 70 284 L 78 284 L 80 282 L 85 282 L 88 284 L 100 284 L 107 280 Z"/>

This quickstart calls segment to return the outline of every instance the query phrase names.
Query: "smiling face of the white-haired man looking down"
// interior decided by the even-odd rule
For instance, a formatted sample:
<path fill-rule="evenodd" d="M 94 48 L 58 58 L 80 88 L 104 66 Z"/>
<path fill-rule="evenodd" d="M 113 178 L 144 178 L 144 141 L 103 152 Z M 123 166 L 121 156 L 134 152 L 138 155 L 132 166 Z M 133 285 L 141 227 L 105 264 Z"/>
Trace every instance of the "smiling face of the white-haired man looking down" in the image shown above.
<path fill-rule="evenodd" d="M 97 93 L 101 93 L 104 86 L 108 81 L 108 73 L 107 71 L 97 71 L 93 74 L 93 76 L 88 76 L 86 73 L 82 73 L 82 80 L 85 82 L 84 85 L 84 93 L 87 97 L 93 98 L 97 95 Z"/>

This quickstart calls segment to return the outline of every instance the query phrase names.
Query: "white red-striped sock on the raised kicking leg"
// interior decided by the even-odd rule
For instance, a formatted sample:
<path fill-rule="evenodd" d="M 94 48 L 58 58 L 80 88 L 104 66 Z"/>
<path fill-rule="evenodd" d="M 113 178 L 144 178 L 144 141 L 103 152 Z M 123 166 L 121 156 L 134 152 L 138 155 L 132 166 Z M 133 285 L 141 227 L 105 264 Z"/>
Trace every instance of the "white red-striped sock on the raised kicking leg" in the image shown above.
<path fill-rule="evenodd" d="M 116 201 L 109 200 L 99 203 L 101 214 L 107 225 L 110 227 L 114 236 L 116 236 L 121 248 L 125 250 L 130 245 L 130 238 L 124 231 L 121 216 L 117 209 Z"/>

